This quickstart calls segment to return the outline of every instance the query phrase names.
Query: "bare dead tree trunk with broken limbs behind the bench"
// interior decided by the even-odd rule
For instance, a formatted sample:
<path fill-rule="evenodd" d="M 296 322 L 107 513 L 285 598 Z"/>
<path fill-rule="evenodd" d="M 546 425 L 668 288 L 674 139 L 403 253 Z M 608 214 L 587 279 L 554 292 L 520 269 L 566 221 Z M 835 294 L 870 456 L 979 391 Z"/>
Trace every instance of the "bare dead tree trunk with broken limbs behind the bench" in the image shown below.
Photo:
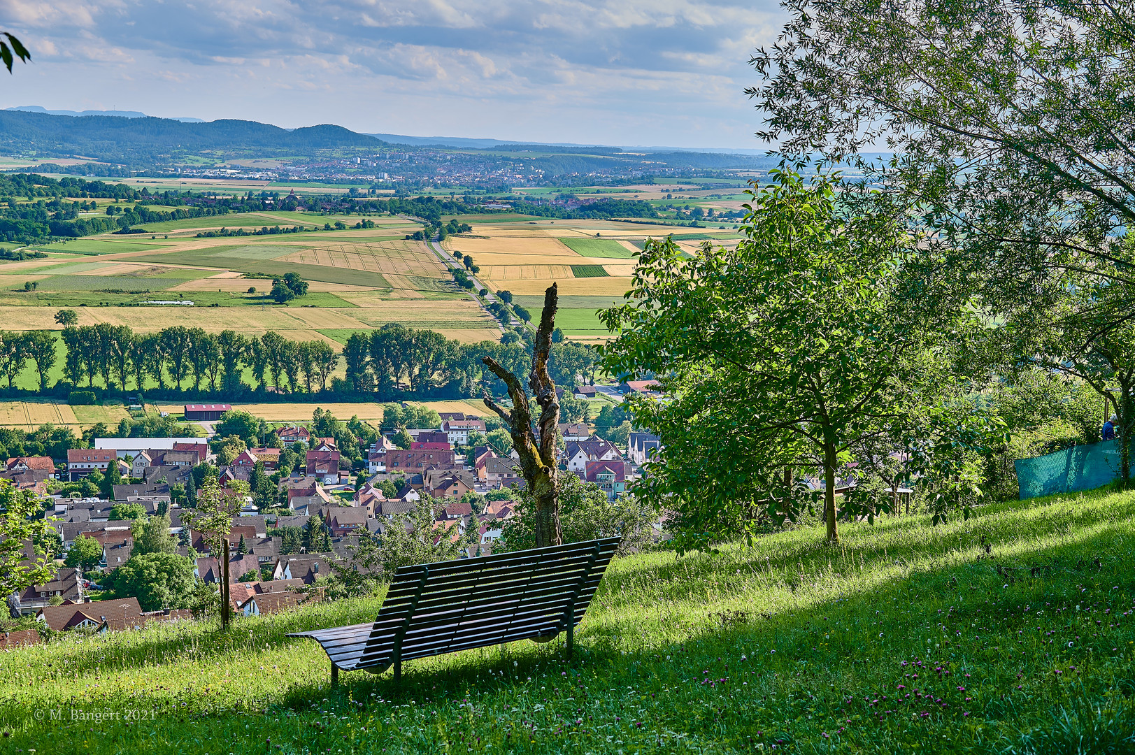
<path fill-rule="evenodd" d="M 544 311 L 540 327 L 536 332 L 532 347 L 532 370 L 528 376 L 528 387 L 540 406 L 537 420 L 538 431 L 532 430 L 532 414 L 528 409 L 528 393 L 515 375 L 501 367 L 491 356 L 482 361 L 486 367 L 508 386 L 512 411 L 499 406 L 488 393 L 485 405 L 504 420 L 512 446 L 520 455 L 520 471 L 524 476 L 529 494 L 532 496 L 536 521 L 536 547 L 562 545 L 560 531 L 560 501 L 556 467 L 556 433 L 560 428 L 560 403 L 556 401 L 556 385 L 548 376 L 548 352 L 552 349 L 552 330 L 555 328 L 558 295 L 556 284 L 544 293 Z"/>

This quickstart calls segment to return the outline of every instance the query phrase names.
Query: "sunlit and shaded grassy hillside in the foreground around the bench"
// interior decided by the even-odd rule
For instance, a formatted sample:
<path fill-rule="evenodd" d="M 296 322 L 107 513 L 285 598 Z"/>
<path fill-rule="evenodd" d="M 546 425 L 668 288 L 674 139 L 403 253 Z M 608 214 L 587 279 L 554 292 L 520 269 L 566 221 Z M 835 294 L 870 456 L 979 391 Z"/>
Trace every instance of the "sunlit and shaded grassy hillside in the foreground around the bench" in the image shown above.
<path fill-rule="evenodd" d="M 836 548 L 808 528 L 632 556 L 573 661 L 518 643 L 411 662 L 401 689 L 331 691 L 318 646 L 284 637 L 378 599 L 67 637 L 0 653 L 0 729 L 40 755 L 1130 752 L 1105 745 L 1135 731 L 1133 514 L 1093 493 L 849 525 Z"/>

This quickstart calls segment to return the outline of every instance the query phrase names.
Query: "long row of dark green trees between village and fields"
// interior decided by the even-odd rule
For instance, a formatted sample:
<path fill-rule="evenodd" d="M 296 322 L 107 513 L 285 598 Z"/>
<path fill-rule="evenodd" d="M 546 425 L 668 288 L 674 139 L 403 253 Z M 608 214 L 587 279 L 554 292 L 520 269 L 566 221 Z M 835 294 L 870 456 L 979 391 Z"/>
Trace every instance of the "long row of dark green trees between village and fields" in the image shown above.
<path fill-rule="evenodd" d="M 157 388 L 236 396 L 272 388 L 289 394 L 365 395 L 378 401 L 477 396 L 489 383 L 485 380 L 484 356 L 522 375 L 531 352 L 530 339 L 462 344 L 435 330 L 394 324 L 352 334 L 340 354 L 325 341 L 292 341 L 274 330 L 246 336 L 230 329 L 208 333 L 171 326 L 135 333 L 125 325 L 75 325 L 76 319 L 74 311 L 60 310 L 57 321 L 65 325 L 61 332 L 0 330 L 0 374 L 9 389 L 15 389 L 26 370 L 33 370 L 39 392 L 47 392 L 58 363 L 62 381 L 56 387 L 66 391 Z M 62 342 L 61 353 L 58 341 Z M 345 377 L 335 376 L 340 358 Z M 550 369 L 561 385 L 570 386 L 579 376 L 592 372 L 595 363 L 589 346 L 571 342 L 553 345 Z"/>

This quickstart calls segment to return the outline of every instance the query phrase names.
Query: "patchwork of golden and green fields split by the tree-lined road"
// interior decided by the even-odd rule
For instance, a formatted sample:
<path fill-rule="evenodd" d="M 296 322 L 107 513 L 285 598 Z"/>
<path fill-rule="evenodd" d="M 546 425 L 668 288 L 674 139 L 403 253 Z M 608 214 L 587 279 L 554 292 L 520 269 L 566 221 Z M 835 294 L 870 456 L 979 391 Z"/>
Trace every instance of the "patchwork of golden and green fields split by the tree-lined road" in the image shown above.
<path fill-rule="evenodd" d="M 108 234 L 44 245 L 49 258 L 0 262 L 0 317 L 9 329 L 59 329 L 56 312 L 74 309 L 79 325 L 109 322 L 138 332 L 185 325 L 250 335 L 276 330 L 293 339 L 322 338 L 336 347 L 353 332 L 388 322 L 430 328 L 462 343 L 499 339 L 498 324 L 454 285 L 428 245 L 403 238 L 405 232 L 420 227 L 405 218 L 379 217 L 378 227 L 368 229 L 194 235 L 222 226 L 322 228 L 336 219 L 285 211 L 233 213 L 170 221 L 176 228 L 154 224 L 152 235 L 158 238 L 153 240 Z M 343 220 L 353 225 L 358 217 Z M 477 224 L 473 234 L 451 236 L 445 245 L 454 253 L 470 253 L 485 284 L 512 291 L 518 301 L 541 296 L 552 282 L 560 283 L 565 302 L 577 296 L 621 296 L 629 288 L 633 255 L 644 240 L 686 230 L 522 216 L 463 220 Z M 689 230 L 684 235 L 696 236 L 692 232 L 699 229 Z M 269 276 L 285 272 L 300 274 L 309 282 L 310 293 L 281 307 L 268 296 Z M 179 301 L 193 305 L 153 303 Z M 597 320 L 582 313 L 586 308 L 573 309 L 565 304 L 561 316 L 561 327 L 571 337 L 605 337 Z M 33 383 L 26 375 L 20 378 L 24 387 Z"/>

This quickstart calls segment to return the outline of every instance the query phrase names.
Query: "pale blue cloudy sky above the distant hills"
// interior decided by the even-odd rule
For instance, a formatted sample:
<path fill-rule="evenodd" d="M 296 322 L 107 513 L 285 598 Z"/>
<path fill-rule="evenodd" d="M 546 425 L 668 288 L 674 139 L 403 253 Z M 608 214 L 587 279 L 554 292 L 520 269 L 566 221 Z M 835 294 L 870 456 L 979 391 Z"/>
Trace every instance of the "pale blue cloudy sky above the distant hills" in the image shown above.
<path fill-rule="evenodd" d="M 743 93 L 775 0 L 0 0 L 0 108 L 285 128 L 764 146 Z"/>

